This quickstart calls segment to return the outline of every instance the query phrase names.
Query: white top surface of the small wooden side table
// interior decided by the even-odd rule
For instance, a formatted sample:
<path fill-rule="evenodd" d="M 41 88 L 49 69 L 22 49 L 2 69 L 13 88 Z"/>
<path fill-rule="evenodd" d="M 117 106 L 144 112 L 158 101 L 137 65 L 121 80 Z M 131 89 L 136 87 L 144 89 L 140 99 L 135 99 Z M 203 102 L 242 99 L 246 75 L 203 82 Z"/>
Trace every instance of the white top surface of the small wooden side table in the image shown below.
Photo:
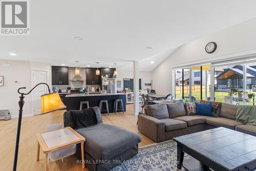
<path fill-rule="evenodd" d="M 71 141 L 78 140 L 79 138 L 73 134 L 69 129 L 61 129 L 57 131 L 51 131 L 41 134 L 42 138 L 46 142 L 48 148 L 62 145 Z"/>

